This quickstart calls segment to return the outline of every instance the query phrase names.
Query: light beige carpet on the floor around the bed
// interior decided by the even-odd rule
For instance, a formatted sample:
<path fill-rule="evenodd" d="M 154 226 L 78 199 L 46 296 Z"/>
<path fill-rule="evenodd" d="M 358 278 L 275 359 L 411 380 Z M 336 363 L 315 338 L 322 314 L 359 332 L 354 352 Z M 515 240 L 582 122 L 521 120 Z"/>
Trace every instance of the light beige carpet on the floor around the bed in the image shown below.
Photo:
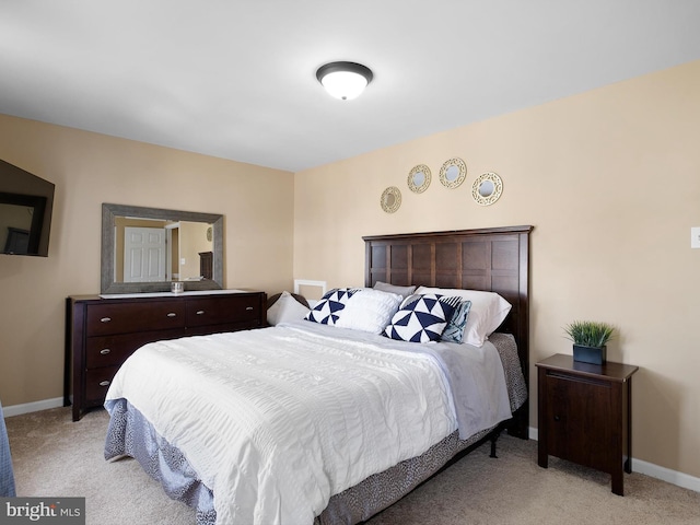
<path fill-rule="evenodd" d="M 195 524 L 137 462 L 104 460 L 104 410 L 75 423 L 69 408 L 5 421 L 19 495 L 85 497 L 88 525 Z M 536 442 L 508 435 L 498 455 L 477 448 L 368 525 L 700 524 L 698 492 L 633 472 L 620 498 L 609 476 L 553 457 L 542 469 Z"/>

